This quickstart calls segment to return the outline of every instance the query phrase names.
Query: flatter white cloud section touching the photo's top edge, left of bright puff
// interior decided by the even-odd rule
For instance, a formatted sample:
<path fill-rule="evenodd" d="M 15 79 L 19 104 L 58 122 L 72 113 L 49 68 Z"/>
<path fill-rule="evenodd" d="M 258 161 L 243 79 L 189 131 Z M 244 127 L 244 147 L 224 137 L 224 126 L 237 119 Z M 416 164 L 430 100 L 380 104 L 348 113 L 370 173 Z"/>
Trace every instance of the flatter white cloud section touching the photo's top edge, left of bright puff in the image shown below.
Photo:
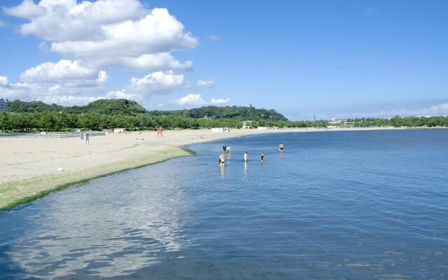
<path fill-rule="evenodd" d="M 136 20 L 148 11 L 137 0 L 25 0 L 19 6 L 3 8 L 7 15 L 29 20 L 20 27 L 22 35 L 46 41 L 92 41 L 104 38 L 104 25 Z"/>

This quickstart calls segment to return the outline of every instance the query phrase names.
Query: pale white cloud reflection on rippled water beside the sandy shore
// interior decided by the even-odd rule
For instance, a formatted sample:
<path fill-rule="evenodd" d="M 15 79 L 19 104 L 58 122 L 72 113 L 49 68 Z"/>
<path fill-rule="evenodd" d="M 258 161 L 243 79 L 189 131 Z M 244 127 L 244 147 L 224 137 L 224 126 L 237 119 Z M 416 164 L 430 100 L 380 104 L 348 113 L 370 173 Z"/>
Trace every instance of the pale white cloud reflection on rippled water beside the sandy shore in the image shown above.
<path fill-rule="evenodd" d="M 45 221 L 36 219 L 32 225 L 50 228 L 13 244 L 10 259 L 45 279 L 83 269 L 97 276 L 124 276 L 158 262 L 161 252 L 178 251 L 188 244 L 178 217 L 186 204 L 182 191 L 161 175 L 160 186 L 157 178 L 145 182 L 141 169 L 118 175 L 127 186 L 109 176 L 89 188 L 54 194 L 41 209 Z"/>

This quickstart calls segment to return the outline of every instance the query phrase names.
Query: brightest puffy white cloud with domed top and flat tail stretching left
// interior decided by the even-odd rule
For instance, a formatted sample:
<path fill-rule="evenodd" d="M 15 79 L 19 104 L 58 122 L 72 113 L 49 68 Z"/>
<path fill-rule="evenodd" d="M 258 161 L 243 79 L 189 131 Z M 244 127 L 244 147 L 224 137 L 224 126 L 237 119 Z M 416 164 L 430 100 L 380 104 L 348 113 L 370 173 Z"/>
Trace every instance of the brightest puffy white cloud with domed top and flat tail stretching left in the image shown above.
<path fill-rule="evenodd" d="M 155 8 L 139 21 L 103 25 L 99 40 L 53 42 L 51 50 L 76 57 L 127 56 L 195 48 L 197 39 L 165 8 Z"/>

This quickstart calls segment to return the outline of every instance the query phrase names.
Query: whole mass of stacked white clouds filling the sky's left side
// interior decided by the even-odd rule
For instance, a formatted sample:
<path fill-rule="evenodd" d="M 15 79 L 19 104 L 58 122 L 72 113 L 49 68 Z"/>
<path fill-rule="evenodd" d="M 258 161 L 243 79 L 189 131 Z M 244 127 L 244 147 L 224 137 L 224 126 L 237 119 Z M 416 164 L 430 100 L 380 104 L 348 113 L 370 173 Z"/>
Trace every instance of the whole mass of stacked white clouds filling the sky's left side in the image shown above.
<path fill-rule="evenodd" d="M 193 62 L 181 62 L 173 52 L 195 48 L 199 41 L 166 8 L 148 9 L 139 0 L 35 1 L 3 12 L 25 19 L 18 30 L 40 39 L 38 50 L 63 58 L 23 71 L 21 83 L 8 84 L 5 77 L 0 94 L 64 104 L 104 97 L 146 101 L 152 94 L 216 85 L 211 79 L 186 80 Z M 148 74 L 106 90 L 107 67 Z"/>

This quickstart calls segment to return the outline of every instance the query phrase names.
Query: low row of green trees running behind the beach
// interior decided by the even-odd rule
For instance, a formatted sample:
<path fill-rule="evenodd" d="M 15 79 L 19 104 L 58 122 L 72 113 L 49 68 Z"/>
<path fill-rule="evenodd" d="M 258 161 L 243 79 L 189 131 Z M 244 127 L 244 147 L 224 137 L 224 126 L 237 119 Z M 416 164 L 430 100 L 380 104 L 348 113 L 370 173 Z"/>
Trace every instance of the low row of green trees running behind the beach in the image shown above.
<path fill-rule="evenodd" d="M 394 117 L 358 118 L 348 120 L 354 127 L 448 127 L 448 117 Z M 327 120 L 253 120 L 249 127 L 326 127 Z M 129 115 L 101 115 L 99 113 L 70 114 L 64 112 L 0 113 L 0 129 L 3 132 L 64 132 L 80 130 L 110 130 L 123 127 L 127 130 L 153 130 L 161 126 L 165 129 L 199 129 L 211 127 L 241 128 L 238 119 L 189 118 L 182 116 L 151 116 L 147 113 Z"/>

